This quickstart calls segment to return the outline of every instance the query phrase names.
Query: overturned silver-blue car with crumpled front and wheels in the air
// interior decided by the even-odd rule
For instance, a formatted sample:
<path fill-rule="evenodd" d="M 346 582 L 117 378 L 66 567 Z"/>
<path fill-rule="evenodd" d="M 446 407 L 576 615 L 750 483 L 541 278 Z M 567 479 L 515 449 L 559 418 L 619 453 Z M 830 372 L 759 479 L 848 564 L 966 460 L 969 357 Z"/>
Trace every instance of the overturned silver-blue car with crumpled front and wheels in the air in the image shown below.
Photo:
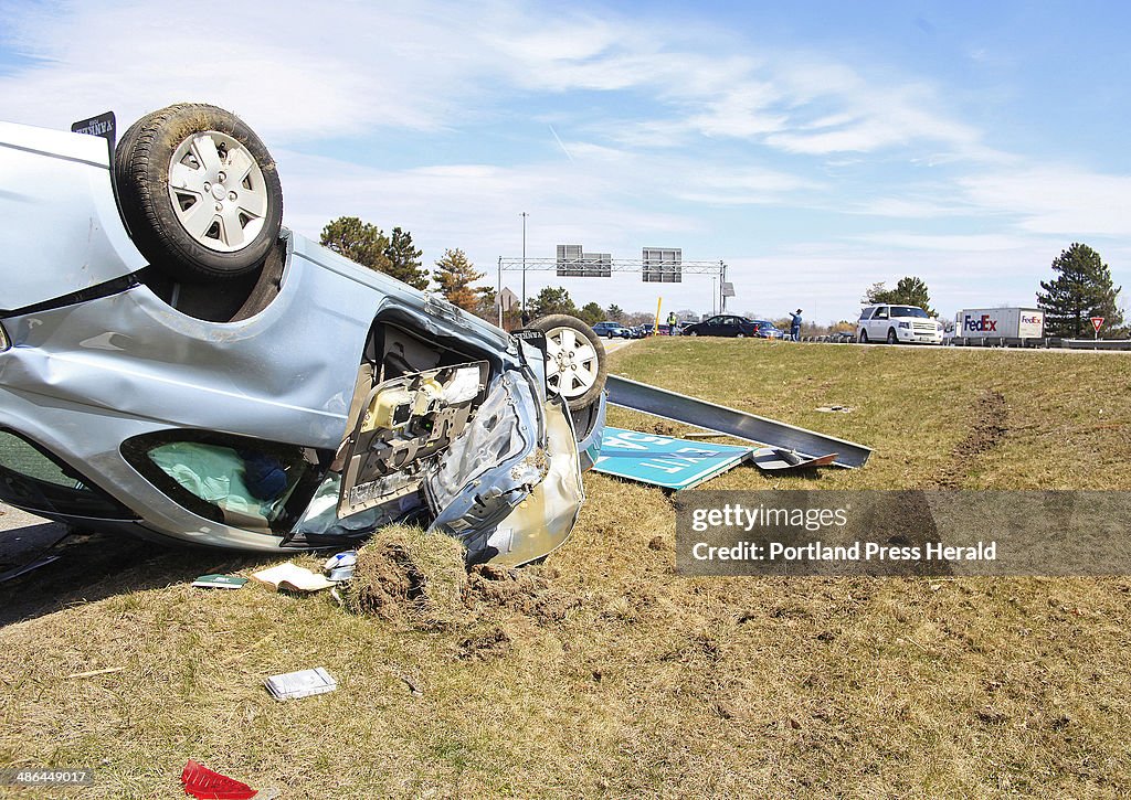
<path fill-rule="evenodd" d="M 510 336 L 282 227 L 267 149 L 182 104 L 118 142 L 0 123 L 0 499 L 221 547 L 394 521 L 521 564 L 605 417 L 572 318 Z"/>

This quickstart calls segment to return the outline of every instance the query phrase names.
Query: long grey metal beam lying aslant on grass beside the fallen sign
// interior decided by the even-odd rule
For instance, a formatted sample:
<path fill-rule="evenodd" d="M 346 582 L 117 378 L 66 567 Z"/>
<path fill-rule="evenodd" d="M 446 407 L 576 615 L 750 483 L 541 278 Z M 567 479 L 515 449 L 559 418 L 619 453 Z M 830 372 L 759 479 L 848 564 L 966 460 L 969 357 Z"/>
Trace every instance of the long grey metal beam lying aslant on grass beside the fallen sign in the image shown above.
<path fill-rule="evenodd" d="M 872 449 L 862 444 L 824 436 L 725 406 L 716 406 L 666 389 L 649 386 L 647 383 L 630 381 L 620 375 L 610 375 L 605 385 L 608 389 L 608 402 L 614 406 L 697 425 L 758 444 L 795 451 L 809 458 L 835 453 L 836 461 L 832 463 L 838 467 L 863 467 L 867 462 L 867 456 L 872 454 Z"/>

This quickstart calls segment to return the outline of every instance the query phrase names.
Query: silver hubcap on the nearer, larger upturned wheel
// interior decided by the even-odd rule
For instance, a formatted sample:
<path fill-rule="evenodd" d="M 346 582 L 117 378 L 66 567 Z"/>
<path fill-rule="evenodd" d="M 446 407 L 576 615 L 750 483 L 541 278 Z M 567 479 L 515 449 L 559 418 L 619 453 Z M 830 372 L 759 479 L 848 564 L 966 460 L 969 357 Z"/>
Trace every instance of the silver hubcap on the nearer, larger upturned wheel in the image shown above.
<path fill-rule="evenodd" d="M 234 253 L 264 228 L 264 173 L 226 133 L 193 133 L 178 146 L 169 165 L 169 195 L 181 227 L 208 250 Z"/>

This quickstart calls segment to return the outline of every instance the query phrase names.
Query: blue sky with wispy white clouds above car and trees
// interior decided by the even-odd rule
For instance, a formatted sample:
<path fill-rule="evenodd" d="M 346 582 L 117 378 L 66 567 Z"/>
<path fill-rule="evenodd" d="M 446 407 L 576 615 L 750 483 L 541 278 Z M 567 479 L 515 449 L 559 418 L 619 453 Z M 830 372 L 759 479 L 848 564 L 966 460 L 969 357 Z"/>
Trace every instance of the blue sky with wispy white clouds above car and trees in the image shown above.
<path fill-rule="evenodd" d="M 0 118 L 235 111 L 285 223 L 413 233 L 431 264 L 580 243 L 724 260 L 739 312 L 854 318 L 922 277 L 946 315 L 1031 304 L 1090 244 L 1131 290 L 1131 12 L 1120 3 L 0 0 Z M 517 289 L 520 278 L 506 273 Z M 637 276 L 558 279 L 655 308 Z M 711 281 L 665 286 L 709 311 Z M 1122 297 L 1122 296 L 1121 296 Z"/>

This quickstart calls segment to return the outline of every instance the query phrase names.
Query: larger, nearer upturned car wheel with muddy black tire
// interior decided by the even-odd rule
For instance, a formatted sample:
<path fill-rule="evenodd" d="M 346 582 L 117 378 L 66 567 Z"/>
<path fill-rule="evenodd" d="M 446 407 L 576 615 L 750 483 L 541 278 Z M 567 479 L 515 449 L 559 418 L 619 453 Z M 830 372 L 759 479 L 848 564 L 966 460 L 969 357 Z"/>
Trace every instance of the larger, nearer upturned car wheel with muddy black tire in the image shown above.
<path fill-rule="evenodd" d="M 133 243 L 175 279 L 247 275 L 278 238 L 275 162 L 223 108 L 181 103 L 141 118 L 118 145 L 114 181 Z"/>

